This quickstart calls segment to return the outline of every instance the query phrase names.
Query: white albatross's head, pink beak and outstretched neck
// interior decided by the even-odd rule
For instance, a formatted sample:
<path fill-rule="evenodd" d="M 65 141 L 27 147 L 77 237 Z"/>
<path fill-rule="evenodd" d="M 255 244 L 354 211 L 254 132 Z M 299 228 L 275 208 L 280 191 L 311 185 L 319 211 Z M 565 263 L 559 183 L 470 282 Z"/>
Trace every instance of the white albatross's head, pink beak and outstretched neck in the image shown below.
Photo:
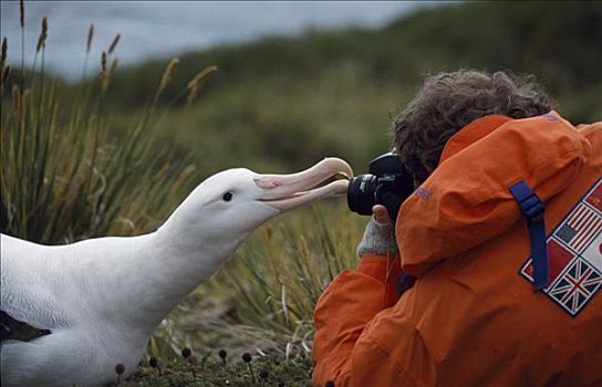
<path fill-rule="evenodd" d="M 321 182 L 351 167 L 326 158 L 292 175 L 261 175 L 248 169 L 216 174 L 178 206 L 141 247 L 136 275 L 128 294 L 135 300 L 143 332 L 152 330 L 196 285 L 215 274 L 236 249 L 270 218 L 314 200 L 345 194 L 347 179 Z M 128 299 L 129 300 L 129 299 Z"/>

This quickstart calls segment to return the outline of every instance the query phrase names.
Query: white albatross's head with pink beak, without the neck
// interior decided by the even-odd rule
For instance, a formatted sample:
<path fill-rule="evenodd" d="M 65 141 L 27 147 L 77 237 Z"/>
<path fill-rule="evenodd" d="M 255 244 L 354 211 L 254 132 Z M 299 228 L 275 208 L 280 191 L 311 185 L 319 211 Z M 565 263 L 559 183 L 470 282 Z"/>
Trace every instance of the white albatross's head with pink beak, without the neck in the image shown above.
<path fill-rule="evenodd" d="M 321 198 L 346 192 L 351 167 L 340 158 L 325 158 L 292 175 L 261 175 L 249 169 L 228 169 L 203 181 L 176 209 L 165 226 L 172 237 L 196 239 L 214 249 L 233 251 L 268 219 Z M 177 232 L 175 232 L 177 230 Z M 224 251 L 225 253 L 227 251 Z M 218 255 L 219 252 L 216 251 Z"/>

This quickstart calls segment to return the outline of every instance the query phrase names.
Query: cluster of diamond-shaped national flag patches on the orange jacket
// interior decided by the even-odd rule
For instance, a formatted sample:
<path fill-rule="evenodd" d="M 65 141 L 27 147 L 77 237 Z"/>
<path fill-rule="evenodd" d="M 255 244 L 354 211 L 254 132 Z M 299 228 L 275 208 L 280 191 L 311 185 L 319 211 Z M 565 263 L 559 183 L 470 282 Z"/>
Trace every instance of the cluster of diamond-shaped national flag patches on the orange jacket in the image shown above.
<path fill-rule="evenodd" d="M 602 286 L 602 178 L 571 208 L 547 242 L 550 284 L 543 293 L 574 317 Z M 531 261 L 527 259 L 520 273 L 533 282 Z"/>

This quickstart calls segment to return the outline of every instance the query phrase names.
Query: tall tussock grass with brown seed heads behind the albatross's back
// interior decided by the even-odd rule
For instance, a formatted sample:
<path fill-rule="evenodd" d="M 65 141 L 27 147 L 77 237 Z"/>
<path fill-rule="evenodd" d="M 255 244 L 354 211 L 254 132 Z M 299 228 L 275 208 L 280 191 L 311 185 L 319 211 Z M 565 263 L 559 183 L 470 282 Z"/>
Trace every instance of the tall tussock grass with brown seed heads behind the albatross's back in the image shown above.
<path fill-rule="evenodd" d="M 23 27 L 22 14 L 21 20 Z M 44 72 L 44 18 L 31 69 L 2 76 L 2 232 L 44 243 L 145 232 L 199 181 L 189 153 L 176 151 L 155 135 L 165 114 L 156 101 L 173 64 L 128 132 L 111 129 L 113 115 L 105 105 L 117 70 L 111 54 L 120 36 L 103 52 L 95 81 L 64 93 L 64 85 Z M 84 71 L 92 43 L 91 25 Z M 2 74 L 10 69 L 7 51 L 4 39 Z"/>

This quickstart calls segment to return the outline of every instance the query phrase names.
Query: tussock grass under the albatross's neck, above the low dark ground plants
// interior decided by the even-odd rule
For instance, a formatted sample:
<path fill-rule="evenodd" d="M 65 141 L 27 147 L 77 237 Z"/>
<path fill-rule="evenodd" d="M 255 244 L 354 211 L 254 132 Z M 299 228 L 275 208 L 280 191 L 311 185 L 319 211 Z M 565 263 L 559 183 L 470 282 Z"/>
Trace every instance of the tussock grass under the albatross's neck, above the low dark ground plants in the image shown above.
<path fill-rule="evenodd" d="M 340 271 L 356 265 L 365 221 L 335 198 L 264 224 L 164 321 L 147 356 L 172 359 L 184 346 L 310 354 L 315 303 Z"/>

